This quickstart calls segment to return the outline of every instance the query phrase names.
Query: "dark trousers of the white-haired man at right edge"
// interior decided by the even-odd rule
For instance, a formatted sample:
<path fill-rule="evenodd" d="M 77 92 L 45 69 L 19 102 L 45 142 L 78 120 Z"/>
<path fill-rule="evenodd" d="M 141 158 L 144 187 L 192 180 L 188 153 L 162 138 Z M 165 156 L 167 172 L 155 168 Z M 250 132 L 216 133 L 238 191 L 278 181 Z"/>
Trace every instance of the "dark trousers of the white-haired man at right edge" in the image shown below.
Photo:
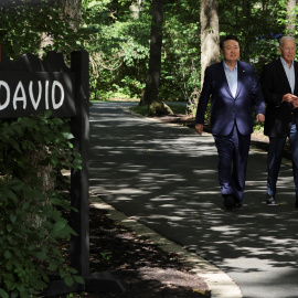
<path fill-rule="evenodd" d="M 289 132 L 289 141 L 291 148 L 292 175 L 296 188 L 296 198 L 298 198 L 298 134 L 296 124 L 291 125 Z M 276 183 L 280 169 L 283 151 L 286 143 L 286 137 L 269 138 L 269 147 L 267 155 L 267 194 L 274 196 L 276 194 Z"/>

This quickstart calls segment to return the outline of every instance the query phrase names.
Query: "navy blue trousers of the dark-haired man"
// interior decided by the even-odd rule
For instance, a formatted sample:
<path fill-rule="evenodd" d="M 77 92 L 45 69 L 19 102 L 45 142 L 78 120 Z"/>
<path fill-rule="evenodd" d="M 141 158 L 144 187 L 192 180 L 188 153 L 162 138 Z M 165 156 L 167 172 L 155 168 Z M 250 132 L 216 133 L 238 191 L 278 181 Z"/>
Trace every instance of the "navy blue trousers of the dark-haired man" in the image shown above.
<path fill-rule="evenodd" d="M 251 135 L 241 135 L 234 125 L 230 135 L 213 136 L 219 152 L 219 182 L 221 193 L 232 194 L 242 202 Z"/>

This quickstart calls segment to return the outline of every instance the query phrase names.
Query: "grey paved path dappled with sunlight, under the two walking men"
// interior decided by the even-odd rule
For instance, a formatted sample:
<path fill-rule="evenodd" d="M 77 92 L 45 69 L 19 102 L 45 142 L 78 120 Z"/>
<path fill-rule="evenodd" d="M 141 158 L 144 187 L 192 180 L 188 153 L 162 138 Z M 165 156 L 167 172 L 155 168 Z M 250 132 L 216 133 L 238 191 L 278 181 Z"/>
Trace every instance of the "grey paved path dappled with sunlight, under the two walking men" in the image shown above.
<path fill-rule="evenodd" d="M 288 164 L 280 204 L 267 206 L 266 153 L 253 148 L 244 207 L 226 212 L 212 136 L 134 116 L 131 105 L 91 108 L 91 190 L 228 274 L 244 298 L 297 298 L 298 211 Z"/>

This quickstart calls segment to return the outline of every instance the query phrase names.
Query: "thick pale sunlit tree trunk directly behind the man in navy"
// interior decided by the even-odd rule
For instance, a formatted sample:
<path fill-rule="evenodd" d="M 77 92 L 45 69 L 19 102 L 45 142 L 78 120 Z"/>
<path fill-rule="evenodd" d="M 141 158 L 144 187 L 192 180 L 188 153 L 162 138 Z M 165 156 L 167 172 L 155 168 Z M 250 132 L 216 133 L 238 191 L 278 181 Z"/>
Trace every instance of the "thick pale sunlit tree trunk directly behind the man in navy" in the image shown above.
<path fill-rule="evenodd" d="M 219 0 L 201 0 L 201 86 L 205 68 L 221 60 Z"/>

